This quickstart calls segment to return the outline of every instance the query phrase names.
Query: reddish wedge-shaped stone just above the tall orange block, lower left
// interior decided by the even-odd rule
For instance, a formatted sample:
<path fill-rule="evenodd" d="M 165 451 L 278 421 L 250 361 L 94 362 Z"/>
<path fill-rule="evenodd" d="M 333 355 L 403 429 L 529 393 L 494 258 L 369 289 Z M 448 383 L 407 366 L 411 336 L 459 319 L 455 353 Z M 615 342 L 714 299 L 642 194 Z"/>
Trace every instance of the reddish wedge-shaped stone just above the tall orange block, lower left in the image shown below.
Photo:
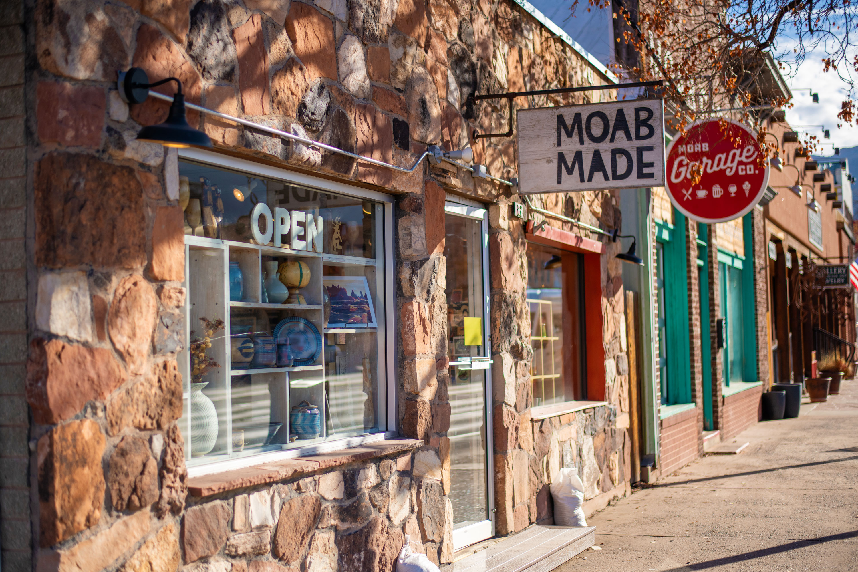
<path fill-rule="evenodd" d="M 41 338 L 30 342 L 27 401 L 36 423 L 56 424 L 71 418 L 87 401 L 106 399 L 125 379 L 109 350 Z"/>

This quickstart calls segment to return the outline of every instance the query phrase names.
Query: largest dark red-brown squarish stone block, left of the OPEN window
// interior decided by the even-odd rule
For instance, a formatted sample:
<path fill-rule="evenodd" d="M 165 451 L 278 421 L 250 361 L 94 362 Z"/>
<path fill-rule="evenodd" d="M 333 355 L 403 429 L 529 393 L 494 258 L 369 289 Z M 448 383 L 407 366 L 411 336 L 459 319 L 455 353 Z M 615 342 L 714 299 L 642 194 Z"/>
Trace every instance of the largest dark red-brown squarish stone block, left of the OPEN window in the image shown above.
<path fill-rule="evenodd" d="M 49 154 L 36 164 L 33 186 L 38 266 L 146 263 L 143 192 L 133 169 L 90 155 Z M 105 200 L 105 189 L 112 200 Z"/>

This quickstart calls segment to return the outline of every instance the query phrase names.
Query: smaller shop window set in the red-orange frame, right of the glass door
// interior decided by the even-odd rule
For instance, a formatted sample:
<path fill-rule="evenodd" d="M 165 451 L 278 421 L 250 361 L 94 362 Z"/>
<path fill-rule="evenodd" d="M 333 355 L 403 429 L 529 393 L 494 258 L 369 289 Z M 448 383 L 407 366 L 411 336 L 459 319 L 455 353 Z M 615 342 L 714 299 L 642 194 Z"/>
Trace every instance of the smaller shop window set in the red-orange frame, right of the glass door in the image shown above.
<path fill-rule="evenodd" d="M 530 382 L 534 406 L 586 399 L 580 255 L 528 244 Z"/>

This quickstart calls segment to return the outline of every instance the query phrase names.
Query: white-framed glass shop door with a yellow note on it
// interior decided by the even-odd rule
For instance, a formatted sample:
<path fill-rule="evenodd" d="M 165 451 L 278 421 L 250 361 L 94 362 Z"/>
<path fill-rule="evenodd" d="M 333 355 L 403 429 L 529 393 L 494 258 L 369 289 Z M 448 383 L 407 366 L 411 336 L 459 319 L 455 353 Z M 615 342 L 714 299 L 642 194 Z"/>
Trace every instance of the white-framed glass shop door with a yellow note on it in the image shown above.
<path fill-rule="evenodd" d="M 450 501 L 453 549 L 494 534 L 486 209 L 448 202 L 447 355 L 450 358 Z"/>

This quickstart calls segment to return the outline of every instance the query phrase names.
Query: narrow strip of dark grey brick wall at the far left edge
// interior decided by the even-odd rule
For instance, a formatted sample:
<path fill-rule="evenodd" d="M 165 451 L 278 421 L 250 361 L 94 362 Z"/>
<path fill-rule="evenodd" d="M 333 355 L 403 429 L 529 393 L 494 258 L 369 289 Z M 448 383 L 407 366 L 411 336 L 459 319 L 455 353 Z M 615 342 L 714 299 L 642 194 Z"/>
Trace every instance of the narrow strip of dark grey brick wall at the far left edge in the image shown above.
<path fill-rule="evenodd" d="M 23 4 L 0 8 L 0 569 L 32 569 L 27 400 Z"/>

